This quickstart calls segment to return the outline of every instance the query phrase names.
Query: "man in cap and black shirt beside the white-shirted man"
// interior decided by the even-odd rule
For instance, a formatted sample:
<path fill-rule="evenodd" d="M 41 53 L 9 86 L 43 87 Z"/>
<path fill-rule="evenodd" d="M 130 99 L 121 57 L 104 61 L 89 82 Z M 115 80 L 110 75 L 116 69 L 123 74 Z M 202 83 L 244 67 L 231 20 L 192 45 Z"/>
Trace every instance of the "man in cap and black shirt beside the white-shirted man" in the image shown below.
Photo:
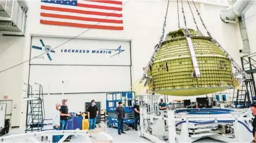
<path fill-rule="evenodd" d="M 68 127 L 68 120 L 71 117 L 69 115 L 68 112 L 68 106 L 67 106 L 67 102 L 68 100 L 63 99 L 62 100 L 62 106 L 60 106 L 60 130 L 66 130 L 66 128 Z M 62 136 L 60 136 L 60 138 L 62 138 Z M 65 142 L 69 142 L 69 139 L 65 139 Z"/>

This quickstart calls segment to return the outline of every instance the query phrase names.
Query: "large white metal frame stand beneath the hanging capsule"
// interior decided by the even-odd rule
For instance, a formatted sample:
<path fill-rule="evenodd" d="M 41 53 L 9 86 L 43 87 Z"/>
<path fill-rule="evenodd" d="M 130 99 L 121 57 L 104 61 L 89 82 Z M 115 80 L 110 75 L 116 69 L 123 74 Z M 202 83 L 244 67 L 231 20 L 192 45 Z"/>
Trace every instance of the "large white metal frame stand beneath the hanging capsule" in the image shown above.
<path fill-rule="evenodd" d="M 176 114 L 175 111 L 169 110 L 167 111 L 167 118 L 152 116 L 147 112 L 145 106 L 140 108 L 140 112 L 141 137 L 147 138 L 152 142 L 165 142 L 167 140 L 168 142 L 194 142 L 205 137 L 224 142 L 251 142 L 253 139 L 250 123 L 251 112 L 249 110 L 212 115 L 193 115 L 185 112 Z M 156 120 L 155 126 L 149 124 L 149 120 L 152 117 Z M 168 127 L 164 127 L 164 120 L 166 120 Z M 232 130 L 229 129 L 231 130 L 229 133 L 225 130 L 226 124 L 232 128 Z M 177 130 L 181 130 L 179 134 Z M 161 139 L 152 134 L 153 131 L 158 134 L 161 132 L 161 135 L 167 135 L 168 138 Z M 162 132 L 165 133 L 162 134 Z"/>

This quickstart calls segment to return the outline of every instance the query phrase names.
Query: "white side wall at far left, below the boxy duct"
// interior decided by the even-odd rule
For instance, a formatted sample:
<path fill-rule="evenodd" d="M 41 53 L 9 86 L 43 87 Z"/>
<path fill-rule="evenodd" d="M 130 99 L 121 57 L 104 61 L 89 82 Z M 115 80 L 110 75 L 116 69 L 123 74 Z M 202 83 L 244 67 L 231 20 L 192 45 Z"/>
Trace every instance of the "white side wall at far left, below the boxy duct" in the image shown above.
<path fill-rule="evenodd" d="M 23 66 L 3 70 L 22 62 L 24 40 L 24 37 L 0 36 L 0 100 L 13 100 L 11 126 L 19 126 Z M 8 99 L 4 99 L 4 96 L 8 96 Z"/>

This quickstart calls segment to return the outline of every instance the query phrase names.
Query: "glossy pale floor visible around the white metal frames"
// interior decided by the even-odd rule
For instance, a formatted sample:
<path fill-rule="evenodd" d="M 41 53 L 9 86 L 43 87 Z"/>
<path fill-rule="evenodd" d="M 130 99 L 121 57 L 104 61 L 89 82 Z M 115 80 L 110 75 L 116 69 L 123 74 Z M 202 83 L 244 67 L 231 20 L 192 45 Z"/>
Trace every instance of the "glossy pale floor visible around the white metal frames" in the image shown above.
<path fill-rule="evenodd" d="M 126 134 L 122 134 L 122 135 L 118 135 L 117 129 L 114 129 L 114 128 L 104 128 L 104 129 L 106 133 L 112 136 L 114 142 L 150 142 L 147 139 L 140 138 L 139 132 L 133 129 L 127 130 Z M 24 133 L 24 132 L 19 129 L 12 129 L 7 135 L 18 135 L 20 133 Z M 38 138 L 38 141 L 46 142 L 46 140 L 40 141 L 40 138 Z M 81 142 L 81 141 L 82 141 L 82 136 L 77 136 L 77 137 L 73 136 L 71 139 L 71 142 Z M 28 139 L 16 139 L 15 141 L 12 141 L 12 142 L 31 142 L 31 141 Z M 196 142 L 218 142 L 218 141 L 214 141 L 211 138 L 206 138 Z"/>

